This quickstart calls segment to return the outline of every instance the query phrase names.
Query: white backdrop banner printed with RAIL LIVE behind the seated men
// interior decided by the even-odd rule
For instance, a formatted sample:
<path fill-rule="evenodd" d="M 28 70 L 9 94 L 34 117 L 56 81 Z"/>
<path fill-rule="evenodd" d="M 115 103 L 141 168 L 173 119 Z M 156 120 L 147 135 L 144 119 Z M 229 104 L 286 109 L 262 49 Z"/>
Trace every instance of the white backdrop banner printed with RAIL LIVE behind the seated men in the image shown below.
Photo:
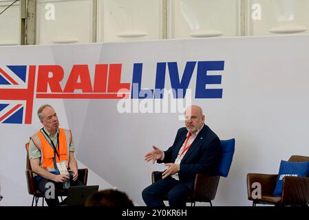
<path fill-rule="evenodd" d="M 247 173 L 308 155 L 308 57 L 308 35 L 1 47 L 0 205 L 30 204 L 24 145 L 46 103 L 77 159 L 141 206 L 151 171 L 165 169 L 144 155 L 171 146 L 184 109 L 200 105 L 220 139 L 236 140 L 214 204 L 248 205 Z"/>

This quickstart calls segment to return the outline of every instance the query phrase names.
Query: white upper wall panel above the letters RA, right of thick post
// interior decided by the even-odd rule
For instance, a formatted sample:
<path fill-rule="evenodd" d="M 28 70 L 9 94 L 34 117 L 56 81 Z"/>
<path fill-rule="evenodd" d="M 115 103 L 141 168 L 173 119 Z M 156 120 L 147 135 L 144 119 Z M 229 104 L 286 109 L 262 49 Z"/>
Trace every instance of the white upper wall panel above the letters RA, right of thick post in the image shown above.
<path fill-rule="evenodd" d="M 92 7 L 92 0 L 37 1 L 36 44 L 92 42 Z"/>

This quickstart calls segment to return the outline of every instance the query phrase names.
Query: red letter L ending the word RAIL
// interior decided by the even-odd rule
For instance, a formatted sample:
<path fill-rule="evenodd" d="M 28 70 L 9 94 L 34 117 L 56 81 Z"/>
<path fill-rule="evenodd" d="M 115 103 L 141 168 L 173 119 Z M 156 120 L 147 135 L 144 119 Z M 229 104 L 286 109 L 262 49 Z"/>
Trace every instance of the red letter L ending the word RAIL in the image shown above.
<path fill-rule="evenodd" d="M 111 64 L 109 65 L 109 78 L 108 78 L 108 88 L 109 93 L 118 93 L 120 89 L 130 89 L 130 83 L 120 83 L 121 78 L 121 64 Z"/>

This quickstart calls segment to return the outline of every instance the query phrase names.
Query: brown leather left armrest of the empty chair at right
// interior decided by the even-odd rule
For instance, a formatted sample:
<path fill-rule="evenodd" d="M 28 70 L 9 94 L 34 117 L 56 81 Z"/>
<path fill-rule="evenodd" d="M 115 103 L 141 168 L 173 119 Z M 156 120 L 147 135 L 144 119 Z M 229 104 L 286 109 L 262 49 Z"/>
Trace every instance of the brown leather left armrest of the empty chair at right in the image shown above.
<path fill-rule="evenodd" d="M 247 174 L 247 192 L 248 199 L 253 200 L 252 188 L 253 183 L 261 184 L 262 195 L 273 195 L 277 183 L 277 174 L 262 174 L 262 173 L 248 173 Z"/>

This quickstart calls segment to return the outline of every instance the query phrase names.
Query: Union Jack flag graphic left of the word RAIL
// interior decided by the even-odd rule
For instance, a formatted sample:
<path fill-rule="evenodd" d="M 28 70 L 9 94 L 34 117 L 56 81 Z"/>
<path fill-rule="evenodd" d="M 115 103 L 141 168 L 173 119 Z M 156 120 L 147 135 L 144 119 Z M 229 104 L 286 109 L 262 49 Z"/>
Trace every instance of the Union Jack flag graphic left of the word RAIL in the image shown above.
<path fill-rule="evenodd" d="M 0 66 L 0 123 L 31 124 L 35 66 Z"/>

